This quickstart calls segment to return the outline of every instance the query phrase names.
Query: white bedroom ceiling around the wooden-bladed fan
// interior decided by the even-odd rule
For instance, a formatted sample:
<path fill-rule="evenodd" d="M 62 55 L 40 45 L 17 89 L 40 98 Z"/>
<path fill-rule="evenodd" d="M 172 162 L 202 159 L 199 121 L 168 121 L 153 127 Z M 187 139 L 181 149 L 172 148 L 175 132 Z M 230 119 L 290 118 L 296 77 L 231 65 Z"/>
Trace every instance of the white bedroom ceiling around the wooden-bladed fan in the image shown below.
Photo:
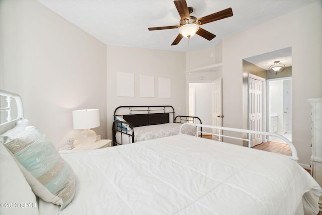
<path fill-rule="evenodd" d="M 172 0 L 37 0 L 107 45 L 171 51 L 214 47 L 224 37 L 279 17 L 314 1 L 309 0 L 187 0 L 197 18 L 232 8 L 233 16 L 201 27 L 216 35 L 199 35 L 171 43 L 178 29 L 148 31 L 148 27 L 178 25 L 180 16 Z"/>

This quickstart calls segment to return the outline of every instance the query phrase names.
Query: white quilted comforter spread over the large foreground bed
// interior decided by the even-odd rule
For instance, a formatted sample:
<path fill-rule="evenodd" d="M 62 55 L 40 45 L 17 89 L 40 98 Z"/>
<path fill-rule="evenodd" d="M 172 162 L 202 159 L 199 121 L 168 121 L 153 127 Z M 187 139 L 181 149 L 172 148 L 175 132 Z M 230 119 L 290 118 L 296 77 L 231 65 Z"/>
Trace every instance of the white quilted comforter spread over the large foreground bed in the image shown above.
<path fill-rule="evenodd" d="M 289 157 L 185 134 L 61 156 L 75 197 L 62 211 L 40 200 L 40 214 L 317 213 L 322 193 Z"/>

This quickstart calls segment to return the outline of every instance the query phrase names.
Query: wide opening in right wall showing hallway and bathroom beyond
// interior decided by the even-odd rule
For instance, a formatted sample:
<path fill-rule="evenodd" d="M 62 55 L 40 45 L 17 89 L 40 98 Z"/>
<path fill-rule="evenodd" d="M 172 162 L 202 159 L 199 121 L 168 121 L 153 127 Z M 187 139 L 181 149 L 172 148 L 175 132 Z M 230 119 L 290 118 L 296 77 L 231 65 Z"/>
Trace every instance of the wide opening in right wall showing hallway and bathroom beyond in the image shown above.
<path fill-rule="evenodd" d="M 284 64 L 282 73 L 271 73 L 269 67 L 275 61 L 280 61 Z M 250 103 L 250 94 L 247 77 L 250 75 L 263 78 L 266 82 L 266 92 L 263 92 L 263 130 L 269 132 L 277 132 L 286 136 L 291 140 L 292 133 L 292 53 L 291 47 L 283 48 L 280 50 L 260 54 L 243 59 L 243 90 L 244 98 L 243 103 L 247 107 Z M 248 92 L 248 93 L 247 93 Z M 246 108 L 245 108 L 246 109 Z M 246 109 L 247 110 L 247 109 Z M 249 108 L 248 108 L 249 110 Z M 250 112 L 244 112 L 244 119 L 248 119 L 249 129 L 252 129 L 250 124 Z M 246 117 L 245 117 L 246 116 Z M 260 120 L 257 120 L 260 122 Z M 260 125 L 261 123 L 258 123 Z M 257 125 L 254 123 L 254 125 Z M 253 126 L 255 127 L 255 126 Z M 256 127 L 255 127 L 256 128 Z M 266 138 L 266 137 L 265 137 Z M 267 137 L 263 138 L 262 142 L 276 141 L 283 142 L 282 140 L 275 140 Z M 245 144 L 243 144 L 246 146 Z M 257 145 L 257 143 L 256 143 Z M 250 146 L 249 146 L 250 147 Z M 253 147 L 253 146 L 251 146 Z"/>

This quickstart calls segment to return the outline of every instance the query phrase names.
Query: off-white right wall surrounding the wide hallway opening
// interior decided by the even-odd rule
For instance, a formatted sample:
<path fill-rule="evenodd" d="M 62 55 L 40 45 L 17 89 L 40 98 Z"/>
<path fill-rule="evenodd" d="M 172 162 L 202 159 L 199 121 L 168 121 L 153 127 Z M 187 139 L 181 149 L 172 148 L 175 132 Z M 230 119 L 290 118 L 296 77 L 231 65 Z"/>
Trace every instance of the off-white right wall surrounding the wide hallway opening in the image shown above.
<path fill-rule="evenodd" d="M 223 125 L 243 127 L 243 59 L 292 47 L 292 141 L 299 163 L 309 165 L 311 119 L 307 99 L 322 96 L 321 38 L 322 2 L 317 1 L 223 39 Z"/>

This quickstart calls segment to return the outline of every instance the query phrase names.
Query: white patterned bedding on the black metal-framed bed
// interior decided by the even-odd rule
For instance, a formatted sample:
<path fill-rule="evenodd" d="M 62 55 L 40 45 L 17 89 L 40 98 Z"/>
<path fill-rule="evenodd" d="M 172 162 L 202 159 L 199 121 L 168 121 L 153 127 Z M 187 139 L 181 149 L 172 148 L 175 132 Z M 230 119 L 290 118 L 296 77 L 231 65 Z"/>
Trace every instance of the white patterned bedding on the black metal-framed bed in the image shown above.
<path fill-rule="evenodd" d="M 181 125 L 182 123 L 164 123 L 134 127 L 134 142 L 179 134 Z M 183 127 L 182 132 L 189 135 L 196 135 L 196 127 L 186 125 Z M 121 132 L 116 132 L 116 140 L 119 143 L 122 142 L 122 144 L 132 143 L 132 137 L 130 136 L 129 138 L 128 135 L 122 134 Z"/>

